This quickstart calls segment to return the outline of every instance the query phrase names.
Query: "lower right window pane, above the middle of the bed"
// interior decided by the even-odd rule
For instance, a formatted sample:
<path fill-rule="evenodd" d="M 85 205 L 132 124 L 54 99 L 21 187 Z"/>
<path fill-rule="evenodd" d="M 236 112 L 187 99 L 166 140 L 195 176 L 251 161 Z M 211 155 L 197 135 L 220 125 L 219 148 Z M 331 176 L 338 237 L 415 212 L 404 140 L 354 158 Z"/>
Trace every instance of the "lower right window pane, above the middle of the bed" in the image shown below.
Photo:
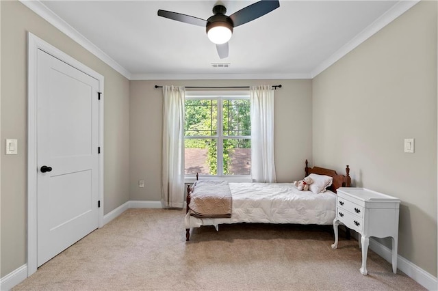
<path fill-rule="evenodd" d="M 224 174 L 251 174 L 250 139 L 224 139 Z"/>

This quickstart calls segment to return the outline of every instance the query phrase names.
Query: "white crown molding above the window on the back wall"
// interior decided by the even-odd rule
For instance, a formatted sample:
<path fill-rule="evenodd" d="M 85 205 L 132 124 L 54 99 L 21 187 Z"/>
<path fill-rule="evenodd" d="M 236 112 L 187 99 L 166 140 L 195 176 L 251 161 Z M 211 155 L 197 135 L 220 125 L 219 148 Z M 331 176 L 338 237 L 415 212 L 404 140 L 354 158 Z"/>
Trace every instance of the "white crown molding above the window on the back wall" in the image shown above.
<path fill-rule="evenodd" d="M 131 80 L 271 80 L 311 79 L 310 74 L 131 74 Z"/>

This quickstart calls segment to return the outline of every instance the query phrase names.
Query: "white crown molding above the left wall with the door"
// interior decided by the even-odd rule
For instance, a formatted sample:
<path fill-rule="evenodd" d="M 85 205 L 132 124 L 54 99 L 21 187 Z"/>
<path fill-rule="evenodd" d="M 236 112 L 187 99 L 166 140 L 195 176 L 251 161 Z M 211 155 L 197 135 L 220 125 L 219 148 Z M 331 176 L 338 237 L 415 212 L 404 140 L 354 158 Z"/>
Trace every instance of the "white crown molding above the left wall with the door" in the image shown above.
<path fill-rule="evenodd" d="M 30 10 L 47 20 L 51 25 L 62 31 L 69 38 L 77 42 L 79 45 L 83 46 L 87 51 L 101 59 L 105 64 L 122 74 L 125 78 L 131 79 L 131 73 L 128 72 L 123 66 L 120 66 L 114 59 L 104 53 L 95 44 L 90 42 L 85 36 L 82 36 L 76 29 L 68 25 L 60 16 L 57 16 L 53 11 L 47 8 L 46 5 L 41 3 L 39 0 L 35 1 L 25 1 L 20 0 L 23 5 L 27 6 Z"/>

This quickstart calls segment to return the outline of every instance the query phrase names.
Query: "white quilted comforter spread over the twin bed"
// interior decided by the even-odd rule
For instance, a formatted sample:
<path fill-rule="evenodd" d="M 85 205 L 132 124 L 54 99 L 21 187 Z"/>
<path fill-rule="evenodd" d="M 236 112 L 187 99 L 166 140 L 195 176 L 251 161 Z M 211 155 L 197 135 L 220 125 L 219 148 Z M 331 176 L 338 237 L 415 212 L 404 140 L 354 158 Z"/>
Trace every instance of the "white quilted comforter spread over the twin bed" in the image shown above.
<path fill-rule="evenodd" d="M 335 219 L 336 194 L 298 191 L 289 183 L 229 183 L 233 196 L 231 218 L 185 216 L 185 228 L 222 223 L 296 223 L 329 225 Z"/>

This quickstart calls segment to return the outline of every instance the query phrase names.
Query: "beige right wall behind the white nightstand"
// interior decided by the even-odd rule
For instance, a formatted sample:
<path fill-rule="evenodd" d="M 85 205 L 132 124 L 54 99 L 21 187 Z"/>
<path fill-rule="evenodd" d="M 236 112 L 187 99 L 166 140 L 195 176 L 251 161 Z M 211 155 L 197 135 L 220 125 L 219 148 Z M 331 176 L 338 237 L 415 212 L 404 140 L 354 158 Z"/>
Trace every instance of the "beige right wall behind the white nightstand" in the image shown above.
<path fill-rule="evenodd" d="M 399 254 L 435 277 L 436 5 L 421 1 L 313 79 L 313 160 L 399 197 Z"/>

